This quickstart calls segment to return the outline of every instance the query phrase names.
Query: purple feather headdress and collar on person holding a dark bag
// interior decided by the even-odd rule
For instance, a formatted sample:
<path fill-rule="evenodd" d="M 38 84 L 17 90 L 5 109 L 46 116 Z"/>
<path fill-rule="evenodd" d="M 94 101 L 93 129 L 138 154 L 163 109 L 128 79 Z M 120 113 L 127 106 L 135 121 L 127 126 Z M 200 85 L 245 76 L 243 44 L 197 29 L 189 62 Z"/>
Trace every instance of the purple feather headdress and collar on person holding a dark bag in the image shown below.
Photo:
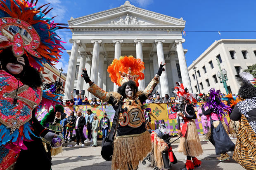
<path fill-rule="evenodd" d="M 214 88 L 211 88 L 209 90 L 209 99 L 207 100 L 207 102 L 204 103 L 203 108 L 209 108 L 209 109 L 213 109 L 215 111 L 217 111 L 218 116 L 225 116 L 228 115 L 228 113 L 224 112 L 224 110 L 227 110 L 228 112 L 231 111 L 231 107 L 225 105 L 220 97 L 220 90 L 215 91 Z"/>

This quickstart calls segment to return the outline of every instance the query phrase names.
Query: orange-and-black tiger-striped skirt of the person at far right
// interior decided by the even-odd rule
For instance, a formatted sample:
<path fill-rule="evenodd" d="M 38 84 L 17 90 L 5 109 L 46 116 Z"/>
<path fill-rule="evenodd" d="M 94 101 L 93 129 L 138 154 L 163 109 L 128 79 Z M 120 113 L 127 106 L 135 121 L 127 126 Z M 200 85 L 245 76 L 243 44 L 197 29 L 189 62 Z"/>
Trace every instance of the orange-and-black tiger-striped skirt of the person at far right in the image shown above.
<path fill-rule="evenodd" d="M 256 133 L 242 114 L 232 157 L 247 170 L 256 170 Z"/>

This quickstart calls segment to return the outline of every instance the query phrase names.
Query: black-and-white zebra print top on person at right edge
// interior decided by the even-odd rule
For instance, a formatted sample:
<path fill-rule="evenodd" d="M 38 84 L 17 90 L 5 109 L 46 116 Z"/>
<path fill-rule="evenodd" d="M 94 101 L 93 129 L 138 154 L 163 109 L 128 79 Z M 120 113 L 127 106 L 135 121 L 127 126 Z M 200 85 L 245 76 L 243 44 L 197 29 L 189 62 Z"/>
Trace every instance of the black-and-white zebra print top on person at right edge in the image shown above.
<path fill-rule="evenodd" d="M 247 119 L 249 119 L 250 117 L 247 113 L 256 108 L 256 97 L 247 98 L 244 101 L 237 103 L 236 107 L 245 117 L 247 117 Z"/>

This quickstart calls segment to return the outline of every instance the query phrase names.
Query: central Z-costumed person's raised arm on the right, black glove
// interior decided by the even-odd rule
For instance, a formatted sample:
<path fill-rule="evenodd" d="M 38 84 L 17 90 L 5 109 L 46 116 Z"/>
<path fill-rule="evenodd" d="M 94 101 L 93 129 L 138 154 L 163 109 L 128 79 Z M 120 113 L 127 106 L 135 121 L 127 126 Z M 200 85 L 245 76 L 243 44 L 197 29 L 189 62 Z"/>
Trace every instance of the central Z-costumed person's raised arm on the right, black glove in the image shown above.
<path fill-rule="evenodd" d="M 160 64 L 159 70 L 156 73 L 155 77 L 151 80 L 151 82 L 147 85 L 147 87 L 145 88 L 145 90 L 143 90 L 144 95 L 146 95 L 147 97 L 152 93 L 152 91 L 154 90 L 154 88 L 156 87 L 156 85 L 159 83 L 159 77 L 161 76 L 162 72 L 165 70 L 164 69 L 164 64 Z"/>

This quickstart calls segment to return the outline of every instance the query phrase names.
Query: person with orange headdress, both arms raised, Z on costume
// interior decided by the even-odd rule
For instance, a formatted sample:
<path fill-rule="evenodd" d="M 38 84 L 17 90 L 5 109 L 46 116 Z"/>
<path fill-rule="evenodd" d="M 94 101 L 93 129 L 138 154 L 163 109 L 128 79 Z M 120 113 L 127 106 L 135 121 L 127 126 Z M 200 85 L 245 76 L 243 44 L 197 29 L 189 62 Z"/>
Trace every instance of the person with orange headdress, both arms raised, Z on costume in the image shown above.
<path fill-rule="evenodd" d="M 107 71 L 111 81 L 116 83 L 118 92 L 107 93 L 90 81 L 86 70 L 82 75 L 86 83 L 90 84 L 88 91 L 107 101 L 119 113 L 114 152 L 112 156 L 112 170 L 135 170 L 143 158 L 152 150 L 150 134 L 145 128 L 142 103 L 152 93 L 164 71 L 160 64 L 159 70 L 144 91 L 138 90 L 138 80 L 144 79 L 142 70 L 144 63 L 133 56 L 120 57 L 109 65 Z M 129 148 L 129 150 L 127 150 Z M 125 154 L 124 154 L 125 153 Z"/>

